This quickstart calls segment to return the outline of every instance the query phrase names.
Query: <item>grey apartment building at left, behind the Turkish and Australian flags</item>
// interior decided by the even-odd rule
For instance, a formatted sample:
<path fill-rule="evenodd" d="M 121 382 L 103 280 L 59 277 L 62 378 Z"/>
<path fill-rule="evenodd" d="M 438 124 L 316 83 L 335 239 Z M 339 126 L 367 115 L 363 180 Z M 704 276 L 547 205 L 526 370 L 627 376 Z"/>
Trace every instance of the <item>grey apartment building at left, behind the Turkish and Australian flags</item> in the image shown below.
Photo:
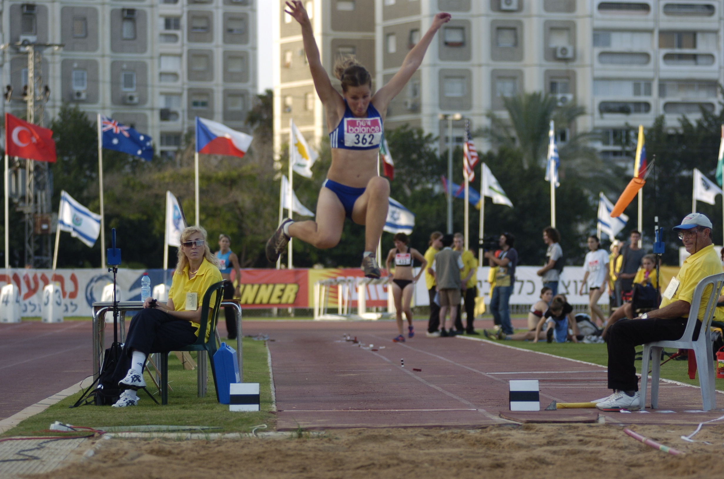
<path fill-rule="evenodd" d="M 256 94 L 254 0 L 3 1 L 6 108 L 25 116 L 28 54 L 41 51 L 48 122 L 63 103 L 111 116 L 172 154 L 195 116 L 245 130 Z"/>

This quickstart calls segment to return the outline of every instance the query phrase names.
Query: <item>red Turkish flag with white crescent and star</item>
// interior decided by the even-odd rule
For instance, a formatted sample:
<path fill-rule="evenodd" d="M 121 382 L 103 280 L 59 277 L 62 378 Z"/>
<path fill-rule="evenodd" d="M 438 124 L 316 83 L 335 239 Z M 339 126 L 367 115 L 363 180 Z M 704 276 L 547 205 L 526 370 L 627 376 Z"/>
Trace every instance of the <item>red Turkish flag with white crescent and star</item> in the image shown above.
<path fill-rule="evenodd" d="M 8 156 L 55 163 L 53 130 L 24 122 L 17 116 L 6 113 L 5 153 Z"/>

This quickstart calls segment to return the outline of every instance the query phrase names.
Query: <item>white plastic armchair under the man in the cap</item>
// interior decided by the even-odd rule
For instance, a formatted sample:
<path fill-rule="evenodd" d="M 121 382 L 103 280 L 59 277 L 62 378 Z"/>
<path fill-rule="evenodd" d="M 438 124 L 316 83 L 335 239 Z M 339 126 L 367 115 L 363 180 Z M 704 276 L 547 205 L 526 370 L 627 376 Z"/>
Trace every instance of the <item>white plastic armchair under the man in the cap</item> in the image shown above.
<path fill-rule="evenodd" d="M 712 294 L 707 301 L 707 308 L 702 318 L 702 329 L 699 331 L 699 338 L 691 341 L 696 326 L 696 316 L 699 314 L 699 305 L 702 302 L 704 288 L 712 285 Z M 712 334 L 710 325 L 714 317 L 714 310 L 719 298 L 719 292 L 724 285 L 724 274 L 712 274 L 699 281 L 694 289 L 694 297 L 691 298 L 691 309 L 689 310 L 689 321 L 686 323 L 686 330 L 681 339 L 677 341 L 657 341 L 644 344 L 644 355 L 641 361 L 641 405 L 646 407 L 646 386 L 648 382 L 647 371 L 649 370 L 649 355 L 652 358 L 651 367 L 651 408 L 658 409 L 659 406 L 659 373 L 661 368 L 661 352 L 665 347 L 675 349 L 694 349 L 696 356 L 696 368 L 699 370 L 699 386 L 702 389 L 702 410 L 710 411 L 716 407 L 715 384 L 714 384 L 714 361 L 712 352 Z M 642 408 L 643 409 L 643 408 Z"/>

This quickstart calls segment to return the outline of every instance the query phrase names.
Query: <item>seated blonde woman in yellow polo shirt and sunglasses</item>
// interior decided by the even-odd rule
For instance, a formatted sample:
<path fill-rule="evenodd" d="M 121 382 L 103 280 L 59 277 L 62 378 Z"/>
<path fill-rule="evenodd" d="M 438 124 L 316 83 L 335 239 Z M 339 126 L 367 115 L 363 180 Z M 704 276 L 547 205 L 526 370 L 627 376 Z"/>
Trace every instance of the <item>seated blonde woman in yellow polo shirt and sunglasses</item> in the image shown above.
<path fill-rule="evenodd" d="M 143 365 L 153 352 L 169 352 L 196 342 L 201 326 L 201 301 L 212 284 L 222 281 L 219 260 L 211 254 L 206 230 L 189 226 L 180 237 L 178 263 L 166 303 L 146 298 L 143 310 L 134 316 L 126 334 L 114 377 L 120 378 L 121 394 L 114 407 L 138 404 L 138 389 L 146 387 Z M 211 299 L 213 301 L 213 297 Z M 209 328 L 206 328 L 209 339 Z"/>

